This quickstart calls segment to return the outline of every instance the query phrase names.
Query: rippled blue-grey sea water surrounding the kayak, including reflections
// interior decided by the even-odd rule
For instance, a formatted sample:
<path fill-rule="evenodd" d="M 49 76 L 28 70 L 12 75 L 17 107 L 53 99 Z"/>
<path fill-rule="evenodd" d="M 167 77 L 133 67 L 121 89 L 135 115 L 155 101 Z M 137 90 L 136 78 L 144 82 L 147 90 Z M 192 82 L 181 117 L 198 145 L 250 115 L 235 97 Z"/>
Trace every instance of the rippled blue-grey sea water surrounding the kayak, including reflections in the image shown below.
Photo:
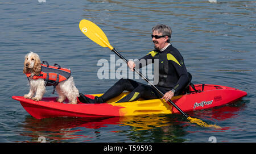
<path fill-rule="evenodd" d="M 234 0 L 0 0 L 0 142 L 36 142 L 40 136 L 47 142 L 209 142 L 210 136 L 217 142 L 255 142 L 255 8 L 255 1 Z M 98 60 L 109 60 L 113 53 L 81 33 L 81 19 L 100 26 L 127 59 L 148 53 L 153 48 L 151 28 L 168 24 L 172 45 L 183 55 L 195 84 L 230 86 L 248 95 L 230 105 L 189 113 L 222 130 L 195 126 L 180 114 L 35 119 L 11 99 L 28 92 L 22 69 L 29 51 L 71 68 L 82 93 L 104 93 L 118 80 L 98 79 Z M 45 96 L 56 95 L 51 92 L 47 88 Z"/>

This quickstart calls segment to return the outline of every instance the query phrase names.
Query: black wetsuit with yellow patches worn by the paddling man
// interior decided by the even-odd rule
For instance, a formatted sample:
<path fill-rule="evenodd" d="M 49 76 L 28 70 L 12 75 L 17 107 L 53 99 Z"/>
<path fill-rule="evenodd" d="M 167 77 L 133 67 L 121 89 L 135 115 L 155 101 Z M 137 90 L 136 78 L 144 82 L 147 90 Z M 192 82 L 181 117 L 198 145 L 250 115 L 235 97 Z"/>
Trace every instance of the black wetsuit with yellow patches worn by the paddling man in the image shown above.
<path fill-rule="evenodd" d="M 188 73 L 183 61 L 183 57 L 180 55 L 180 52 L 176 48 L 172 47 L 172 45 L 169 45 L 162 52 L 159 50 L 151 51 L 146 56 L 142 57 L 142 59 L 146 60 L 145 65 L 148 65 L 149 59 L 151 59 L 152 63 L 155 63 L 157 61 L 156 59 L 158 59 L 159 74 L 154 75 L 158 76 L 159 82 L 155 86 L 160 91 L 162 91 L 163 94 L 174 89 L 176 91 L 175 95 L 178 95 L 187 85 Z M 135 61 L 135 64 L 137 69 L 144 66 L 139 63 L 139 61 Z M 87 103 L 103 103 L 113 97 L 118 96 L 125 90 L 130 91 L 131 93 L 120 99 L 118 102 L 137 101 L 137 99 L 140 97 L 144 99 L 162 98 L 158 91 L 156 91 L 150 85 L 141 84 L 134 80 L 121 78 L 121 80 L 116 82 L 101 97 L 89 99 L 80 94 L 79 100 L 81 102 Z"/>

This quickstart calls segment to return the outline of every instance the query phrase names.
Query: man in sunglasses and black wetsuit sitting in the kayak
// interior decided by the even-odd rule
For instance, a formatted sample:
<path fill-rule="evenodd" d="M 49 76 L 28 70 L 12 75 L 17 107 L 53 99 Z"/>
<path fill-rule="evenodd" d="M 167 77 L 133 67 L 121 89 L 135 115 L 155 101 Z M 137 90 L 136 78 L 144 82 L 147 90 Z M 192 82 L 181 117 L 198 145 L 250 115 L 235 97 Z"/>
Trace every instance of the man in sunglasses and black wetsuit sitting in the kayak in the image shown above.
<path fill-rule="evenodd" d="M 90 99 L 80 93 L 79 101 L 84 103 L 104 103 L 111 98 L 117 97 L 125 90 L 130 91 L 130 93 L 118 102 L 137 101 L 140 97 L 144 99 L 162 98 L 168 101 L 168 99 L 171 99 L 174 95 L 179 95 L 188 84 L 189 77 L 183 57 L 180 52 L 170 44 L 171 34 L 171 28 L 164 24 L 153 27 L 151 36 L 155 49 L 140 59 L 144 59 L 146 62 L 150 59 L 152 63 L 154 63 L 154 60 L 156 62 L 158 60 L 159 73 L 155 73 L 154 75 L 158 75 L 159 82 L 155 86 L 162 91 L 164 94 L 163 97 L 150 85 L 121 78 L 101 97 Z M 134 68 L 139 69 L 144 66 L 139 63 L 139 61 L 128 61 L 127 65 L 132 71 L 134 71 Z"/>

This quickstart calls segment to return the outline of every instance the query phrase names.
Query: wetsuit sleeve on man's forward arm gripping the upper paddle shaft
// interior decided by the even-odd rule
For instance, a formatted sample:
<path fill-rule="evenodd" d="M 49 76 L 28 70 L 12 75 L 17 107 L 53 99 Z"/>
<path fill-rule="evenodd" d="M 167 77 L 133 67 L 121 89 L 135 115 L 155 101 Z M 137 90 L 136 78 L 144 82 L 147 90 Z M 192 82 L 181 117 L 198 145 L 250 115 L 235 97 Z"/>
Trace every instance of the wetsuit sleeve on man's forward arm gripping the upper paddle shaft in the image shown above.
<path fill-rule="evenodd" d="M 142 57 L 141 59 L 134 61 L 135 63 L 135 68 L 140 69 L 143 68 L 144 66 L 154 63 L 154 56 L 157 54 L 155 51 L 149 52 L 146 56 Z"/>

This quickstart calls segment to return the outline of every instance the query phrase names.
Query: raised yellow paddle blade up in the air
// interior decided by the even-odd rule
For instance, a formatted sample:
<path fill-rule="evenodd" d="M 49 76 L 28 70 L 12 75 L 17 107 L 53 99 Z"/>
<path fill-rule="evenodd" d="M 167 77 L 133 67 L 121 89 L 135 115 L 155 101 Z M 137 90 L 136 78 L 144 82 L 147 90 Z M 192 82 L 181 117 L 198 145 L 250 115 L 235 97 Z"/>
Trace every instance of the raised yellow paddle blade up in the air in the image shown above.
<path fill-rule="evenodd" d="M 93 22 L 82 19 L 79 23 L 79 28 L 82 33 L 84 33 L 84 35 L 86 35 L 89 39 L 98 45 L 101 45 L 101 47 L 108 47 L 111 50 L 113 49 L 113 47 L 109 44 L 109 40 L 104 32 Z"/>

